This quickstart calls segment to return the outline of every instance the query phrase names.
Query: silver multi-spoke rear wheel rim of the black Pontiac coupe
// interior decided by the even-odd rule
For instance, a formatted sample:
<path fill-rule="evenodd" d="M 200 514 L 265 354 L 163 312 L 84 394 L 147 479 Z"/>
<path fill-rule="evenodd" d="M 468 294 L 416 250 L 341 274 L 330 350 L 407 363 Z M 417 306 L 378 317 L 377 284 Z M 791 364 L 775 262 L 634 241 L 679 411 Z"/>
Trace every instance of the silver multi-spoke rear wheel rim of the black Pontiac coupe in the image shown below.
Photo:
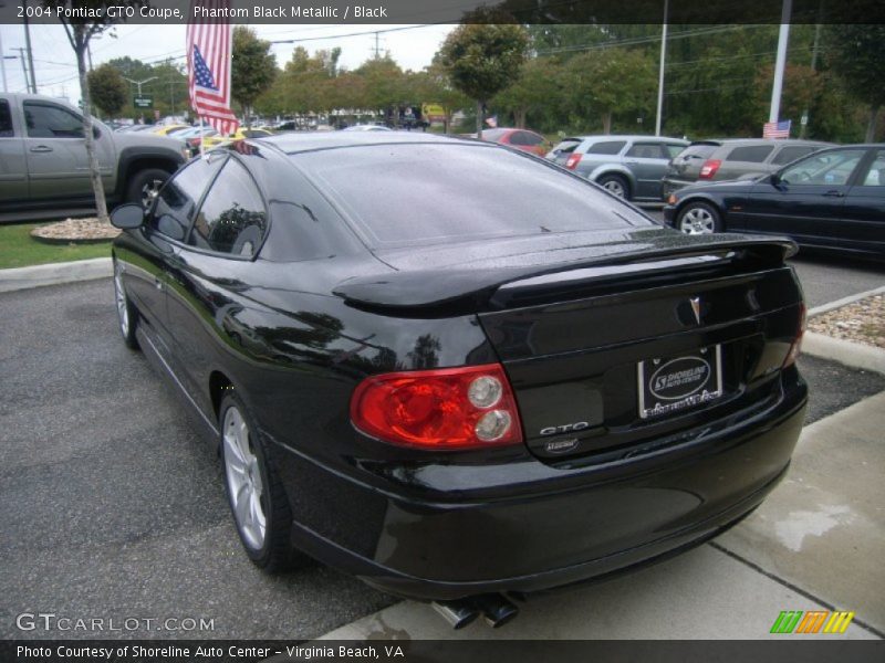
<path fill-rule="evenodd" d="M 264 482 L 249 427 L 236 406 L 225 412 L 225 474 L 233 516 L 246 544 L 260 550 L 264 545 L 267 518 L 261 504 Z"/>

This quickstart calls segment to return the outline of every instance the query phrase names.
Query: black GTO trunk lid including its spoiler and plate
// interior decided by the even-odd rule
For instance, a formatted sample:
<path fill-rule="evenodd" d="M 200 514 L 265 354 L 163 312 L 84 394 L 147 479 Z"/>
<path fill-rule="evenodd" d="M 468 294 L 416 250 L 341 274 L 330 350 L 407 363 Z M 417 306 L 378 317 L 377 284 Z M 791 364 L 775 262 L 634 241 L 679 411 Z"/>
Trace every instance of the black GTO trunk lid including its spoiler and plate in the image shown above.
<path fill-rule="evenodd" d="M 550 464 L 652 453 L 777 398 L 802 309 L 789 240 L 593 234 L 387 252 L 398 272 L 334 291 L 378 314 L 476 314 Z"/>

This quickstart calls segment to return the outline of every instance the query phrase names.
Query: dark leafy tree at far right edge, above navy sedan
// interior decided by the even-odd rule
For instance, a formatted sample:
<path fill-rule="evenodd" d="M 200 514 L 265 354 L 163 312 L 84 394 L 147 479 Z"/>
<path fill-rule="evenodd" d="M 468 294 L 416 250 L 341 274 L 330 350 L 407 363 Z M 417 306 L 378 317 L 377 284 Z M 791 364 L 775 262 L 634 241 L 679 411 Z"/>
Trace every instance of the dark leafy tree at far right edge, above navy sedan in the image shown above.
<path fill-rule="evenodd" d="M 876 134 L 878 112 L 885 105 L 882 62 L 885 60 L 885 25 L 827 25 L 830 64 L 852 96 L 870 105 L 866 143 Z"/>

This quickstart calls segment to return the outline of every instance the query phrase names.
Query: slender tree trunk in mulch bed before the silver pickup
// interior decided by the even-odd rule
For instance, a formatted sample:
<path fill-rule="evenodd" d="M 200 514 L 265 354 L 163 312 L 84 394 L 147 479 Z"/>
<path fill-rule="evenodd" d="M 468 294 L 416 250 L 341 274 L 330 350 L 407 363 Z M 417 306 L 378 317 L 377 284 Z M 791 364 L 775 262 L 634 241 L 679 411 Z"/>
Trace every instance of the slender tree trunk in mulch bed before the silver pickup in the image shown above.
<path fill-rule="evenodd" d="M 83 137 L 86 147 L 86 159 L 90 166 L 90 181 L 92 182 L 92 191 L 95 196 L 95 209 L 98 219 L 105 223 L 110 222 L 107 217 L 107 201 L 104 197 L 104 183 L 102 182 L 102 175 L 98 170 L 98 158 L 95 155 L 95 135 L 92 128 L 92 95 L 90 94 L 90 85 L 86 80 L 86 49 L 88 49 L 90 41 L 96 34 L 101 34 L 110 29 L 114 19 L 108 17 L 108 6 L 121 7 L 140 7 L 142 0 L 44 0 L 44 6 L 52 8 L 55 15 L 59 17 L 64 33 L 67 35 L 67 41 L 74 50 L 76 56 L 76 72 L 80 80 L 80 92 L 83 97 Z M 77 14 L 90 14 L 101 17 L 100 19 L 85 19 L 85 18 L 62 18 L 61 10 L 79 9 Z M 83 11 L 91 10 L 91 11 Z M 118 15 L 115 13 L 115 15 Z"/>

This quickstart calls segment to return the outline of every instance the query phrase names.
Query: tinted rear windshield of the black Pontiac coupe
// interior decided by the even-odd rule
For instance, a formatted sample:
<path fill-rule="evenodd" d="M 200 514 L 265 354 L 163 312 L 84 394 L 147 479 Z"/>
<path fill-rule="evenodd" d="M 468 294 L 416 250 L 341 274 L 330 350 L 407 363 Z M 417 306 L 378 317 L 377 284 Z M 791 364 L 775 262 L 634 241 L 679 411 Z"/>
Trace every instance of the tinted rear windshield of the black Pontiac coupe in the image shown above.
<path fill-rule="evenodd" d="M 481 145 L 363 146 L 291 158 L 373 248 L 654 225 L 581 178 Z"/>

